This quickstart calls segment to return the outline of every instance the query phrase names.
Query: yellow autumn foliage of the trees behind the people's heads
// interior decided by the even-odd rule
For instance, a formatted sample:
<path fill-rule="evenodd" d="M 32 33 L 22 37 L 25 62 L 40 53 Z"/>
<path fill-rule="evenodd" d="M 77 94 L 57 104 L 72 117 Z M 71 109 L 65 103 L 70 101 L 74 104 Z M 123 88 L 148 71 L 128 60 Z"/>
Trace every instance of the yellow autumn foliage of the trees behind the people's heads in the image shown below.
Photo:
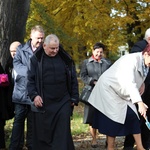
<path fill-rule="evenodd" d="M 130 48 L 143 38 L 149 6 L 149 0 L 32 0 L 27 35 L 31 26 L 42 25 L 46 35 L 60 38 L 77 63 L 98 41 L 107 46 L 107 57 L 117 56 L 119 46 Z"/>

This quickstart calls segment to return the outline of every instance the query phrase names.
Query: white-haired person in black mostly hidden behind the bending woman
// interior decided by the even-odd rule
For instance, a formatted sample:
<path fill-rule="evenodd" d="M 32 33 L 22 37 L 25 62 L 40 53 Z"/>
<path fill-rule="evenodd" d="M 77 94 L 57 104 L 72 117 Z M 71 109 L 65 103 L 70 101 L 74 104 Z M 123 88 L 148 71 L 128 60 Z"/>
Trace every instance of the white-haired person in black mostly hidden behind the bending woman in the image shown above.
<path fill-rule="evenodd" d="M 148 28 L 145 32 L 145 37 L 143 40 L 138 41 L 131 48 L 130 53 L 142 52 L 147 44 L 150 44 L 150 28 Z M 142 99 L 144 103 L 150 108 L 150 71 L 145 80 L 145 92 L 142 95 Z M 147 111 L 147 117 L 150 119 L 150 110 Z M 143 147 L 146 150 L 150 149 L 150 130 L 145 125 L 144 118 L 141 118 L 141 138 Z M 128 135 L 125 137 L 124 141 L 124 150 L 133 150 L 134 147 L 134 138 L 132 135 Z"/>

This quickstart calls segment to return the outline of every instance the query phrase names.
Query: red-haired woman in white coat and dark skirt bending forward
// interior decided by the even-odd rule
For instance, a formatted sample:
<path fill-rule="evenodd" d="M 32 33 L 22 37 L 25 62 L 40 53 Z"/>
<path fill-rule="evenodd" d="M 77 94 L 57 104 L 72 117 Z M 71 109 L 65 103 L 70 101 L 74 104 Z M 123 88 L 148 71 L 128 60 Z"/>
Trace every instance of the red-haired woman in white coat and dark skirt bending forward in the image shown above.
<path fill-rule="evenodd" d="M 128 134 L 133 134 L 137 149 L 144 150 L 136 104 L 139 113 L 146 117 L 147 106 L 141 95 L 149 67 L 150 45 L 143 52 L 122 56 L 95 85 L 89 98 L 98 111 L 93 127 L 107 135 L 107 150 L 115 149 L 116 136 Z"/>

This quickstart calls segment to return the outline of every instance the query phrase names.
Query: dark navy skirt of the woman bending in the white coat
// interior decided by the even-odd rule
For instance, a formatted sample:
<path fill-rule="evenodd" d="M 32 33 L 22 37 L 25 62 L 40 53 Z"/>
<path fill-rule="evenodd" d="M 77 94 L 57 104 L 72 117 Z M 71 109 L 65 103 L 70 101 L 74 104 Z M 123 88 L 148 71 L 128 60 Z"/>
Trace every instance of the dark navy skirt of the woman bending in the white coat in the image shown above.
<path fill-rule="evenodd" d="M 100 133 L 112 137 L 141 133 L 140 120 L 129 106 L 124 124 L 115 122 L 96 110 L 92 127 L 98 129 Z"/>

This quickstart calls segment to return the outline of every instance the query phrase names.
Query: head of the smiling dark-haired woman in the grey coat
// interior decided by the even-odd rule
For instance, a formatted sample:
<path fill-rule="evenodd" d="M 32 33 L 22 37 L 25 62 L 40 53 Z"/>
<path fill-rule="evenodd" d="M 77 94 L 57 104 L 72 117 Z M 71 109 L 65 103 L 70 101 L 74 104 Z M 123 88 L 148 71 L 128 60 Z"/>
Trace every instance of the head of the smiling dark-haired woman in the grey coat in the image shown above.
<path fill-rule="evenodd" d="M 96 60 L 99 60 L 103 57 L 105 46 L 104 44 L 97 42 L 93 46 L 92 54 Z"/>

